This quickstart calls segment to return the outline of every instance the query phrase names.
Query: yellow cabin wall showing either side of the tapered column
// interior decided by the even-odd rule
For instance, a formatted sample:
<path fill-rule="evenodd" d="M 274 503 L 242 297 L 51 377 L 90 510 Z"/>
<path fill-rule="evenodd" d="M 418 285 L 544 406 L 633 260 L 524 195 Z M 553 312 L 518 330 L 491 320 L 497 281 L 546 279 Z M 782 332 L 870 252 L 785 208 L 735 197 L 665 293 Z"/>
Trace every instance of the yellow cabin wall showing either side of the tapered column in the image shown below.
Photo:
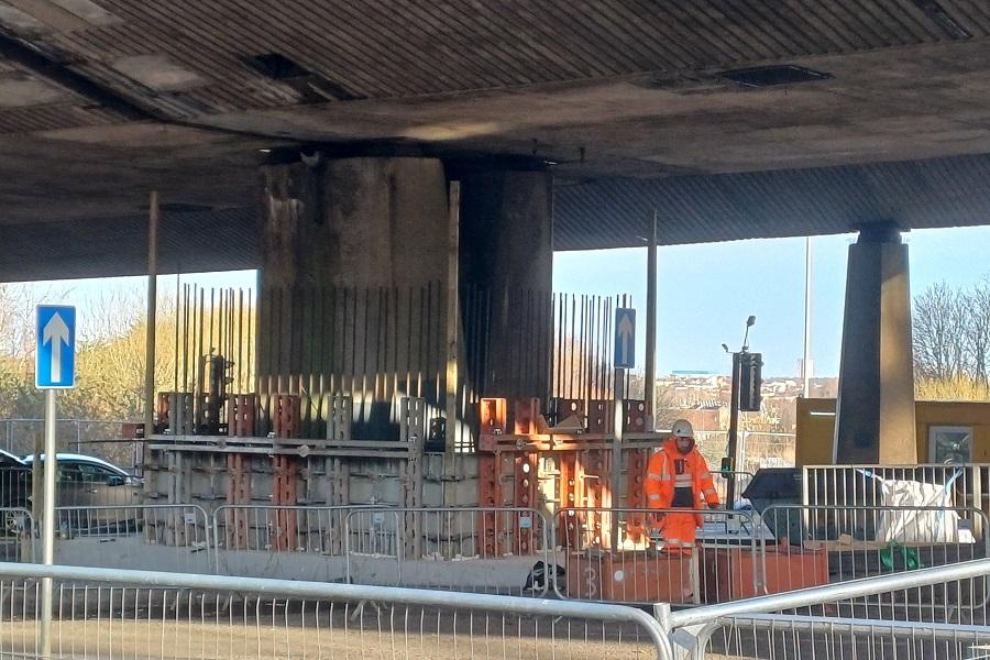
<path fill-rule="evenodd" d="M 972 427 L 972 461 L 990 462 L 990 403 L 915 402 L 914 418 L 919 462 L 930 461 L 928 429 L 933 426 Z M 834 433 L 835 399 L 798 399 L 798 465 L 832 463 Z"/>

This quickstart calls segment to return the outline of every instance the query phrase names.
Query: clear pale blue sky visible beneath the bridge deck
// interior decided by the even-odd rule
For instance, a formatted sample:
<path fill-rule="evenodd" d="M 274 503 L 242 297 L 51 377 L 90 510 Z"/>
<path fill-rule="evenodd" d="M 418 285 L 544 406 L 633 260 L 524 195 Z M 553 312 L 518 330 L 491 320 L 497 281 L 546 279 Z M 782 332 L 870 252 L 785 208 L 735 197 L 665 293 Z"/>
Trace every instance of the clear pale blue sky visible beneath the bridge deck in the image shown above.
<path fill-rule="evenodd" d="M 911 248 L 912 294 L 945 280 L 966 286 L 990 275 L 990 227 L 920 230 L 905 234 Z M 815 375 L 836 375 L 842 341 L 846 256 L 854 234 L 812 240 L 812 358 Z M 204 286 L 253 287 L 253 271 L 183 276 Z M 162 295 L 175 277 L 162 277 Z M 630 293 L 638 308 L 637 351 L 642 363 L 646 249 L 558 253 L 554 290 L 613 295 Z M 36 283 L 46 301 L 87 306 L 108 292 L 141 295 L 143 278 Z M 763 354 L 765 374 L 792 375 L 803 350 L 804 239 L 773 239 L 679 245 L 658 251 L 657 362 L 660 373 L 702 370 L 726 373 L 722 343 L 737 349 L 746 317 L 756 315 L 750 348 Z"/>

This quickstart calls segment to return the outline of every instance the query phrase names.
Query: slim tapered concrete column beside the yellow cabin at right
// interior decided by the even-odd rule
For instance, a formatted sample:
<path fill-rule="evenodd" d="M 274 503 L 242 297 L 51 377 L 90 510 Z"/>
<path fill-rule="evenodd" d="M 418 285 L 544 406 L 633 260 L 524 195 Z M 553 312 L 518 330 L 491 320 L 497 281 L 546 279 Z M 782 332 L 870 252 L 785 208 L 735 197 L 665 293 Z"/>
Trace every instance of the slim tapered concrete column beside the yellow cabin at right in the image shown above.
<path fill-rule="evenodd" d="M 836 463 L 917 462 L 908 273 L 893 224 L 868 226 L 849 246 Z"/>

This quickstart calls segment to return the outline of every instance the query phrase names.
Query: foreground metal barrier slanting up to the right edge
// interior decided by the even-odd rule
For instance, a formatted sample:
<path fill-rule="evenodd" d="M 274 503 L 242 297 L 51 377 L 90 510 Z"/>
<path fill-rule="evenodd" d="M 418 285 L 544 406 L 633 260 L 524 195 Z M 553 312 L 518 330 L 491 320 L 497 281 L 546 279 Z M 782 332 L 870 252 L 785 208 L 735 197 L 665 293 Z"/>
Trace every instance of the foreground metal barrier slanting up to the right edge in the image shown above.
<path fill-rule="evenodd" d="M 990 560 L 919 569 L 671 612 L 658 605 L 656 614 L 679 652 L 702 659 L 708 653 L 728 658 L 948 658 L 976 660 L 971 654 L 990 640 L 987 622 L 953 624 L 849 618 L 829 614 L 836 603 L 870 600 L 915 590 L 937 591 L 965 582 L 985 584 Z M 821 612 L 820 616 L 798 610 Z M 882 613 L 881 613 L 882 614 Z M 771 615 L 771 616 L 765 616 Z"/>

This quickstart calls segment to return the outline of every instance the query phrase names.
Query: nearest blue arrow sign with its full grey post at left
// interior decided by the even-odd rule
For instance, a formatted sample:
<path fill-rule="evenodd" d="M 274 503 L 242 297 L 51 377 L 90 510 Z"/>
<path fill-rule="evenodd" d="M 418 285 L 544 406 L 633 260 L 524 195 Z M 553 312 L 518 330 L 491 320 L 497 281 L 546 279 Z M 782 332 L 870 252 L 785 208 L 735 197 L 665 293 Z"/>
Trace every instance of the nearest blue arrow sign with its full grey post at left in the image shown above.
<path fill-rule="evenodd" d="M 76 386 L 76 308 L 37 306 L 34 384 L 45 391 L 45 490 L 42 563 L 55 563 L 55 391 Z M 35 461 L 40 457 L 34 457 Z M 41 657 L 52 656 L 52 579 L 42 580 Z"/>

